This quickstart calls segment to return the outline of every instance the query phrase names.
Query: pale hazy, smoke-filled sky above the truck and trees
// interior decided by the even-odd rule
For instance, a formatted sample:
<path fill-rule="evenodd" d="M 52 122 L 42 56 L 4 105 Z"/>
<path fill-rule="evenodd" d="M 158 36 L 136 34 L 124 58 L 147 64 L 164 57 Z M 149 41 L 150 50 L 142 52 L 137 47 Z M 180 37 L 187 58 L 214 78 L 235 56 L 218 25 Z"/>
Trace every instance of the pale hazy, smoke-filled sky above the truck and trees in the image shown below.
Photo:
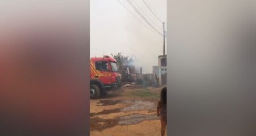
<path fill-rule="evenodd" d="M 119 1 L 143 21 L 126 0 Z M 158 56 L 163 54 L 163 36 L 143 21 L 147 26 L 145 27 L 119 1 L 90 1 L 90 57 L 101 57 L 104 54 L 110 56 L 111 53 L 118 52 L 128 56 L 134 55 L 137 65 L 143 67 L 143 73 L 152 73 L 152 66 L 158 65 Z M 144 1 L 163 22 L 166 22 L 166 0 Z M 131 2 L 137 4 L 142 14 L 146 14 L 146 18 L 152 21 L 151 24 L 163 32 L 162 23 L 142 0 Z"/>

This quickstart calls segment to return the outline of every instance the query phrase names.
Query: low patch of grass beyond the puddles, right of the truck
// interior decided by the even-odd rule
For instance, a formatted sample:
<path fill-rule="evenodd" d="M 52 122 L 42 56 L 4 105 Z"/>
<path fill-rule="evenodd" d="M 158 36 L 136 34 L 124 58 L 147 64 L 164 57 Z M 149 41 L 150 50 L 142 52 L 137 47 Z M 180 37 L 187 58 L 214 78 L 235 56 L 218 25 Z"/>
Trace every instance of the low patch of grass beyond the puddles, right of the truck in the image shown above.
<path fill-rule="evenodd" d="M 160 94 L 157 92 L 151 92 L 148 90 L 136 90 L 130 92 L 130 95 L 133 97 L 139 97 L 143 99 L 151 99 L 151 100 L 158 100 L 160 99 Z"/>

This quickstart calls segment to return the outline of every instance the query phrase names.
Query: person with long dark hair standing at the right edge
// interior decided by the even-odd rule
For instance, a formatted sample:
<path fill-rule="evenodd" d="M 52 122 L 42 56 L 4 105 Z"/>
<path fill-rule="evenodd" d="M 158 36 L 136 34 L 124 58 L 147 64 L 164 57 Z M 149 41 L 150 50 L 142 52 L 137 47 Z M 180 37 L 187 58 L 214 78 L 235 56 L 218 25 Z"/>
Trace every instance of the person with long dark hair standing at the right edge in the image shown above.
<path fill-rule="evenodd" d="M 161 94 L 160 94 L 160 100 L 158 101 L 157 106 L 157 114 L 158 117 L 160 116 L 161 121 L 161 135 L 164 136 L 164 133 L 166 132 L 166 125 L 167 125 L 167 109 L 166 109 L 166 87 L 162 88 Z"/>

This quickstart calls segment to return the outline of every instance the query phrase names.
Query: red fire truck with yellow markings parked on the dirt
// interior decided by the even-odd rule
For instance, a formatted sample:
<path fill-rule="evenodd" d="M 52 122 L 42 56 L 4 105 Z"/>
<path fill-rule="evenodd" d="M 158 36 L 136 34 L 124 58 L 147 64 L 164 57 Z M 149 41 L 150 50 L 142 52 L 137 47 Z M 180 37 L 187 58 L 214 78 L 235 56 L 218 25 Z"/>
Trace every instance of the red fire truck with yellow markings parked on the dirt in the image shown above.
<path fill-rule="evenodd" d="M 106 91 L 121 86 L 117 61 L 109 56 L 90 58 L 90 98 L 97 99 Z"/>

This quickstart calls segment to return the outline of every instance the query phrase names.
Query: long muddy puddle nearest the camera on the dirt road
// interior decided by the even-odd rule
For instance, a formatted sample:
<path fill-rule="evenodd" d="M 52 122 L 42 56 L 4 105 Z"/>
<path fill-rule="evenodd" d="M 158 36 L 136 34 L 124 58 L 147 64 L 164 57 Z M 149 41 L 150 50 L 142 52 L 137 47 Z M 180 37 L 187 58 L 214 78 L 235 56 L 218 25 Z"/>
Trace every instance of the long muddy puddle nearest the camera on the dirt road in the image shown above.
<path fill-rule="evenodd" d="M 102 131 L 116 125 L 133 125 L 144 120 L 158 120 L 156 115 L 130 114 L 113 119 L 102 119 L 98 117 L 90 118 L 90 131 Z"/>

